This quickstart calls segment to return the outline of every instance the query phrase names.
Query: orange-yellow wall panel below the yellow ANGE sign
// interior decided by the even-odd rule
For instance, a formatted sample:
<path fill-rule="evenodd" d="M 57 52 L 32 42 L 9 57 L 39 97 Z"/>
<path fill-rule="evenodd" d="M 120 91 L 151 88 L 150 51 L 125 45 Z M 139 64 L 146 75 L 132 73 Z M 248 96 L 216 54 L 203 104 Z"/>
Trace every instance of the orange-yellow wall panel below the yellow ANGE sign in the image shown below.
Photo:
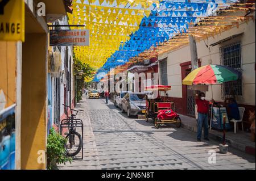
<path fill-rule="evenodd" d="M 16 43 L 0 41 L 0 90 L 6 98 L 6 106 L 16 103 Z"/>

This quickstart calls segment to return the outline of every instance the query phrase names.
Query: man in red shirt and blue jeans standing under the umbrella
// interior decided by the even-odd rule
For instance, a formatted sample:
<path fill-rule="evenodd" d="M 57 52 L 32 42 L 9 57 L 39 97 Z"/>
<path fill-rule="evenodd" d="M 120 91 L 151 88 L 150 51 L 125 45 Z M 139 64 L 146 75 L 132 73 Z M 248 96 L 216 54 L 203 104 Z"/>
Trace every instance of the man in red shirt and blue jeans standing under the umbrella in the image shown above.
<path fill-rule="evenodd" d="M 203 125 L 204 125 L 204 140 L 209 141 L 209 138 L 208 138 L 209 102 L 205 100 L 204 92 L 200 92 L 199 96 L 196 94 L 196 105 L 197 105 L 197 112 L 198 112 L 197 141 L 201 141 Z"/>

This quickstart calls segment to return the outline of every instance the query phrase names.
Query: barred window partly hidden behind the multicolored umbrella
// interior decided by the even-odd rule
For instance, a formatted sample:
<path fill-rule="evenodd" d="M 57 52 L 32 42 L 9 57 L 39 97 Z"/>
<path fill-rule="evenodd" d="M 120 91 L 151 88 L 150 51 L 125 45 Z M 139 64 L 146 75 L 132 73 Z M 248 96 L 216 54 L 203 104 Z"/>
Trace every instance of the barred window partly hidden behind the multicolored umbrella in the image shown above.
<path fill-rule="evenodd" d="M 242 73 L 241 43 L 220 48 L 221 65 L 229 66 Z M 222 99 L 242 96 L 242 78 L 222 84 Z"/>

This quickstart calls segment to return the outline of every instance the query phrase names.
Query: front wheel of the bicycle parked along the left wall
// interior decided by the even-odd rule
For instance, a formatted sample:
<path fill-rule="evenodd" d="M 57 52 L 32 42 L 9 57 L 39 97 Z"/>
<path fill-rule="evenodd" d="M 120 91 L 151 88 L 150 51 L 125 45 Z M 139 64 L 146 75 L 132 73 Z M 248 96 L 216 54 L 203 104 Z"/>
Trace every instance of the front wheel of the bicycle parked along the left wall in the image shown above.
<path fill-rule="evenodd" d="M 75 157 L 82 149 L 82 136 L 77 132 L 68 133 L 64 147 L 69 157 Z"/>

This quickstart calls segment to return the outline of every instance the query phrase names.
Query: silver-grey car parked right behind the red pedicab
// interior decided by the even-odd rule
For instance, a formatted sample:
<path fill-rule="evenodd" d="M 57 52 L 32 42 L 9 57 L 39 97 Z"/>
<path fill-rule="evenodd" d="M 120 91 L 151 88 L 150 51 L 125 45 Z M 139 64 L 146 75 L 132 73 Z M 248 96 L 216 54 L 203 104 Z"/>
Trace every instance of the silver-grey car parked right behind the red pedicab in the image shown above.
<path fill-rule="evenodd" d="M 146 112 L 146 93 L 127 92 L 122 98 L 121 110 L 127 112 L 127 116 L 144 115 Z"/>

